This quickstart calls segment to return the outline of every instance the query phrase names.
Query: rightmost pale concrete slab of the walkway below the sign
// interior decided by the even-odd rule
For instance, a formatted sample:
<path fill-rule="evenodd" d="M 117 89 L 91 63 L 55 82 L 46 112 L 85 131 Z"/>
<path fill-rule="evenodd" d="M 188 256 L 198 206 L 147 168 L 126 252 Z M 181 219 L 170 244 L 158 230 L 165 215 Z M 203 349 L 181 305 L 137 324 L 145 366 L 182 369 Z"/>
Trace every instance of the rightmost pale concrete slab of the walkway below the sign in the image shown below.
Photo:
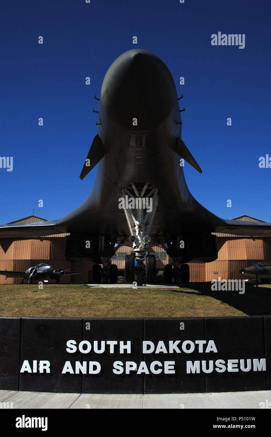
<path fill-rule="evenodd" d="M 259 392 L 209 393 L 209 397 L 223 409 L 257 409 L 260 408 L 260 402 L 265 403 L 266 399 L 269 399 L 269 402 L 271 402 L 271 390 L 262 390 Z"/>

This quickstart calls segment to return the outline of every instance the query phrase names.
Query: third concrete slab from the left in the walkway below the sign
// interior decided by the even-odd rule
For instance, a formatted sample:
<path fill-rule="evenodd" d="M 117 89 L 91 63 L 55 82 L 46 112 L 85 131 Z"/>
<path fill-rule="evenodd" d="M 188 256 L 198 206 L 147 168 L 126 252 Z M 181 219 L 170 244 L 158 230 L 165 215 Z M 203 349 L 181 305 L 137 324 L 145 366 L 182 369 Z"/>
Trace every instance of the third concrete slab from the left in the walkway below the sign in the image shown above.
<path fill-rule="evenodd" d="M 144 395 L 144 409 L 221 408 L 207 393 Z"/>

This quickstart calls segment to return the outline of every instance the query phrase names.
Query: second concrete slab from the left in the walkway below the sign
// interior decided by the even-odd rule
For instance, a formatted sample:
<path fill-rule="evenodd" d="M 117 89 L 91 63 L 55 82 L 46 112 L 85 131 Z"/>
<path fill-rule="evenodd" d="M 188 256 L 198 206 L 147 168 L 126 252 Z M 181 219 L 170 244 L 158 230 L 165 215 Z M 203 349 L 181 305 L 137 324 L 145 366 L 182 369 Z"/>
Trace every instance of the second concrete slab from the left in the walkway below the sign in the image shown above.
<path fill-rule="evenodd" d="M 143 395 L 82 394 L 71 409 L 142 409 Z"/>

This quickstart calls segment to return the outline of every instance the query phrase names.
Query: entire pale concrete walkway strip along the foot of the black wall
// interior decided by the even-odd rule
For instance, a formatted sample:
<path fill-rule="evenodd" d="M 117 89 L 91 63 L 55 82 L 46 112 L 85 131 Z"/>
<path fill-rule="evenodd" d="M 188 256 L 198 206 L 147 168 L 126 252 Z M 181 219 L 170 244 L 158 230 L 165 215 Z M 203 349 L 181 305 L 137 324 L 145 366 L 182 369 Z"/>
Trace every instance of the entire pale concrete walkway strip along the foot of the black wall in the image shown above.
<path fill-rule="evenodd" d="M 259 392 L 193 393 L 166 395 L 103 395 L 13 392 L 0 390 L 0 408 L 14 409 L 259 409 L 271 401 L 271 390 Z M 6 402 L 6 403 L 5 403 Z M 9 404 L 7 404 L 9 402 Z M 13 405 L 10 405 L 13 402 Z"/>

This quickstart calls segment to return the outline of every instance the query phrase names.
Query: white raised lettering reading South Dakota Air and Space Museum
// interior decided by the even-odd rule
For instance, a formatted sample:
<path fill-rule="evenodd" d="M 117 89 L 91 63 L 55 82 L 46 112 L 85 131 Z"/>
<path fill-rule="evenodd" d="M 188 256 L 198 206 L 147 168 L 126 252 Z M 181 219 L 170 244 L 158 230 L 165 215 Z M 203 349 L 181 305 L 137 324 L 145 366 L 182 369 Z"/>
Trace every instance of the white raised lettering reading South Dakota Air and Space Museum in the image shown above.
<path fill-rule="evenodd" d="M 131 354 L 132 345 L 130 340 L 76 340 L 66 342 L 66 351 L 69 354 L 80 352 L 81 354 Z M 144 340 L 142 342 L 143 354 L 153 354 L 153 361 L 114 361 L 112 371 L 115 375 L 170 375 L 175 374 L 175 361 L 161 360 L 168 354 L 217 354 L 214 340 Z M 155 355 L 159 360 L 155 359 Z M 181 365 L 181 362 L 177 362 Z M 178 369 L 183 371 L 182 369 Z M 62 367 L 62 375 L 98 375 L 102 371 L 102 366 L 98 361 L 65 361 Z M 215 360 L 195 360 L 186 361 L 187 374 L 208 374 L 212 372 L 259 372 L 266 371 L 265 358 L 229 358 L 227 361 L 217 358 Z M 51 374 L 50 361 L 48 360 L 24 360 L 21 364 L 20 373 Z M 103 372 L 102 372 L 103 375 Z"/>

